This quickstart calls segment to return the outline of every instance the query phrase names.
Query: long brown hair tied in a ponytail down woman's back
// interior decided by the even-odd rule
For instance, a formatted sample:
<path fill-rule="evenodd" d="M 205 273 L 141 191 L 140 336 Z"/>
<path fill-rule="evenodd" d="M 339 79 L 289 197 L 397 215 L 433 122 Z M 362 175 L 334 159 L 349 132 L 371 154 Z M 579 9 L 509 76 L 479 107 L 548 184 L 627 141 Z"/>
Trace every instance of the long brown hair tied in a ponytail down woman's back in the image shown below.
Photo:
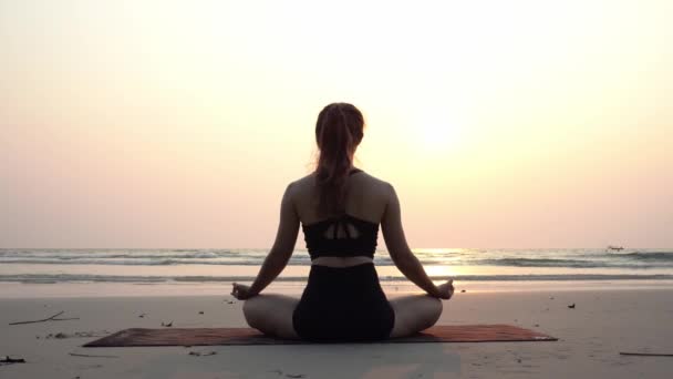
<path fill-rule="evenodd" d="M 315 183 L 320 193 L 320 214 L 345 212 L 345 180 L 363 132 L 364 117 L 351 104 L 332 103 L 318 115 L 315 142 L 320 155 L 315 164 Z"/>

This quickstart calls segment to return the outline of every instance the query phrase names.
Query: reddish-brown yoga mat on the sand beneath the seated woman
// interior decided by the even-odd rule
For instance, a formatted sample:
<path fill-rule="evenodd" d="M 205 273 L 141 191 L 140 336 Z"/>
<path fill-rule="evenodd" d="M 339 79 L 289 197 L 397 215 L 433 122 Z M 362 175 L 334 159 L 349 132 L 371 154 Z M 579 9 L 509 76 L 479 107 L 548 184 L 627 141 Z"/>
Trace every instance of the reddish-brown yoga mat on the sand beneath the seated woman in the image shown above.
<path fill-rule="evenodd" d="M 434 326 L 411 337 L 391 338 L 377 342 L 514 342 L 556 340 L 556 338 L 541 332 L 510 325 L 444 325 Z M 312 342 L 267 337 L 251 328 L 164 328 L 125 329 L 89 342 L 84 347 L 298 344 Z"/>

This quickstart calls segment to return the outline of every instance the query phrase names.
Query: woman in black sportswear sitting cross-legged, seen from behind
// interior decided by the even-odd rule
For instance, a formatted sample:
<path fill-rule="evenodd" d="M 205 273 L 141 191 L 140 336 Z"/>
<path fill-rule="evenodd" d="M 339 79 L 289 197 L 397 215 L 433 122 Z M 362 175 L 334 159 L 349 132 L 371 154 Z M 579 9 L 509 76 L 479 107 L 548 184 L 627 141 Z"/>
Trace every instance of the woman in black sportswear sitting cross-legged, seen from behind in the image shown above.
<path fill-rule="evenodd" d="M 441 299 L 452 297 L 452 280 L 435 286 L 408 248 L 393 186 L 353 167 L 363 129 L 362 113 L 351 104 L 320 112 L 315 171 L 287 187 L 276 242 L 252 285 L 234 284 L 231 295 L 246 300 L 252 328 L 313 341 L 403 337 L 433 326 Z M 301 299 L 260 295 L 290 259 L 300 223 L 311 256 Z M 386 299 L 373 264 L 379 225 L 397 268 L 426 295 Z"/>

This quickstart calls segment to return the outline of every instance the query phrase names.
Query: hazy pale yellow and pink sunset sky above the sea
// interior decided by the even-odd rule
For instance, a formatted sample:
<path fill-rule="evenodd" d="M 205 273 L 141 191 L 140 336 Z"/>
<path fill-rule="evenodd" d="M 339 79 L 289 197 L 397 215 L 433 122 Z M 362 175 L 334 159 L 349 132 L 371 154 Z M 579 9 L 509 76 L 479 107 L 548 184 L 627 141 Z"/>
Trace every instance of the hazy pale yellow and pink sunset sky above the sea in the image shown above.
<path fill-rule="evenodd" d="M 672 16 L 0 0 L 0 248 L 270 247 L 342 101 L 412 247 L 672 247 Z"/>

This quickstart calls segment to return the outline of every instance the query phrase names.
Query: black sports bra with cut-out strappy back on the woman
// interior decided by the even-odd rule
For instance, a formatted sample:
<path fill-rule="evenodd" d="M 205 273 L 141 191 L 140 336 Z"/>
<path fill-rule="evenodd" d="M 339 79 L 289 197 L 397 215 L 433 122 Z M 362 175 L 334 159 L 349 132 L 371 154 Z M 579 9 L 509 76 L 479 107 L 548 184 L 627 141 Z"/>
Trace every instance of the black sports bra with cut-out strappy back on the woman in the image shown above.
<path fill-rule="evenodd" d="M 361 172 L 354 168 L 350 174 Z M 302 224 L 311 260 L 318 257 L 374 257 L 379 224 L 343 214 L 313 224 Z M 355 232 L 353 235 L 352 232 Z"/>

